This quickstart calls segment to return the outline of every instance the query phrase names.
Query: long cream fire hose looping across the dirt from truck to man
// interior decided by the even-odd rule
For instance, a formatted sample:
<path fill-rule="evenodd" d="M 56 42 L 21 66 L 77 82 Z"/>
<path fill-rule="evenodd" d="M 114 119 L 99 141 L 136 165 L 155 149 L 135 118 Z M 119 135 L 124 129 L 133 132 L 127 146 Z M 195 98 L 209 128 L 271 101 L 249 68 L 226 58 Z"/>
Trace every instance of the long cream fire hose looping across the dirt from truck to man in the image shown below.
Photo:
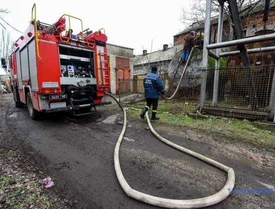
<path fill-rule="evenodd" d="M 116 100 L 116 98 L 114 96 L 112 96 L 109 93 L 105 93 L 105 94 L 112 97 L 114 99 L 114 101 L 119 105 L 121 110 L 123 111 L 123 117 L 124 117 L 123 128 L 122 128 L 121 133 L 120 133 L 118 140 L 116 142 L 113 158 L 114 158 L 114 170 L 115 170 L 117 180 L 127 196 L 134 198 L 138 201 L 141 201 L 141 202 L 153 205 L 153 206 L 163 207 L 163 208 L 194 209 L 194 208 L 203 208 L 203 207 L 212 206 L 214 204 L 217 204 L 217 203 L 223 201 L 230 194 L 230 191 L 233 189 L 234 183 L 235 183 L 235 175 L 234 175 L 233 169 L 231 169 L 227 166 L 224 166 L 214 160 L 211 160 L 210 158 L 207 158 L 203 155 L 195 153 L 191 150 L 180 147 L 180 146 L 164 139 L 163 137 L 161 137 L 159 134 L 157 134 L 154 131 L 154 129 L 150 123 L 150 120 L 148 118 L 148 111 L 146 112 L 146 120 L 147 120 L 150 131 L 157 139 L 159 139 L 163 143 L 165 143 L 165 144 L 167 144 L 183 153 L 193 156 L 201 161 L 204 161 L 205 163 L 208 163 L 209 165 L 212 165 L 212 166 L 220 169 L 221 171 L 224 171 L 225 173 L 227 173 L 227 181 L 226 181 L 224 187 L 216 194 L 205 197 L 205 198 L 198 198 L 198 199 L 193 199 L 193 200 L 172 200 L 172 199 L 158 198 L 155 196 L 147 195 L 147 194 L 138 192 L 136 190 L 133 190 L 128 185 L 125 178 L 123 177 L 123 174 L 122 174 L 121 168 L 120 168 L 120 164 L 119 164 L 119 148 L 120 148 L 120 144 L 121 144 L 121 141 L 122 141 L 122 138 L 124 136 L 124 133 L 126 131 L 126 126 L 127 126 L 126 111 L 121 106 L 121 104 Z"/>

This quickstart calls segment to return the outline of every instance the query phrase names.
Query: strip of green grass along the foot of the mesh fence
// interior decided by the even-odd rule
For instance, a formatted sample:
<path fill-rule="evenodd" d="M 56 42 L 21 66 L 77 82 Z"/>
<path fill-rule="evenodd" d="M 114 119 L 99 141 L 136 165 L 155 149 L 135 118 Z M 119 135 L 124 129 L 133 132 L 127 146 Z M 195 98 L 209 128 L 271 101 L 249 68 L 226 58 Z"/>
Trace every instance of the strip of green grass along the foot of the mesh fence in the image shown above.
<path fill-rule="evenodd" d="M 127 113 L 139 117 L 139 110 L 127 109 Z M 211 117 L 205 120 L 195 120 L 181 114 L 158 113 L 159 121 L 154 123 L 169 126 L 175 130 L 182 128 L 196 129 L 205 134 L 217 134 L 226 139 L 237 140 L 255 147 L 275 149 L 275 133 L 255 127 L 252 123 L 233 119 Z"/>

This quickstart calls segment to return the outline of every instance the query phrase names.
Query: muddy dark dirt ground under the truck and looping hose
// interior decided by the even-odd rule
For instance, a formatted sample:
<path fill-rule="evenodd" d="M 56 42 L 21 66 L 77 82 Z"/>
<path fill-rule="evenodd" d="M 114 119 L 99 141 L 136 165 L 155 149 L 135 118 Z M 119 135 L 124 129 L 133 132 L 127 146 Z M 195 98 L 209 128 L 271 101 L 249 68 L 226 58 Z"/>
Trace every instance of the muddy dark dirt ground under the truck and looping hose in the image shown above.
<path fill-rule="evenodd" d="M 119 186 L 113 151 L 121 131 L 122 112 L 98 108 L 93 115 L 28 117 L 26 107 L 15 108 L 11 94 L 0 95 L 1 129 L 14 133 L 20 148 L 55 182 L 55 190 L 73 208 L 156 208 L 128 198 Z M 273 189 L 274 153 L 249 144 L 193 129 L 176 130 L 152 123 L 164 138 L 216 160 L 235 172 L 235 189 Z M 158 141 L 146 130 L 146 121 L 130 116 L 120 149 L 120 165 L 135 190 L 170 199 L 212 195 L 226 181 L 226 174 Z M 209 208 L 275 208 L 275 194 L 231 194 Z"/>

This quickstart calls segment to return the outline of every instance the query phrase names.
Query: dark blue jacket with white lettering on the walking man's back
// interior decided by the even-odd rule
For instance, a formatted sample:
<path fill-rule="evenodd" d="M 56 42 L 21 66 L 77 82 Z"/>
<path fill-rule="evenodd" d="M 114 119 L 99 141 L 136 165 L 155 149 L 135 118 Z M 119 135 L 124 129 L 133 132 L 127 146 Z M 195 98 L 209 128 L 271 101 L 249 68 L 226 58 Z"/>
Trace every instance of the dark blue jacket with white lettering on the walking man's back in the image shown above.
<path fill-rule="evenodd" d="M 159 96 L 159 92 L 164 94 L 164 88 L 160 77 L 154 71 L 144 77 L 143 86 L 145 98 L 156 99 Z"/>

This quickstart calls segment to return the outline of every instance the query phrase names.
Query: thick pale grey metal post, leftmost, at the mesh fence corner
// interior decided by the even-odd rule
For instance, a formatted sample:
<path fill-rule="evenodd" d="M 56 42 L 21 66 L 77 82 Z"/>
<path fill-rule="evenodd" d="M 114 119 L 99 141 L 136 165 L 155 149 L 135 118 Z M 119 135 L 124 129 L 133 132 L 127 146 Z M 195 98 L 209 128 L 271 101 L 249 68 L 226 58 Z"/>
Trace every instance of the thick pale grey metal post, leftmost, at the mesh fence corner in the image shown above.
<path fill-rule="evenodd" d="M 206 0 L 206 11 L 205 11 L 205 23 L 204 23 L 204 39 L 203 39 L 203 54 L 202 54 L 202 66 L 203 68 L 208 67 L 208 49 L 206 46 L 209 44 L 210 37 L 210 20 L 211 20 L 211 0 Z M 202 82 L 200 86 L 200 99 L 199 106 L 200 110 L 202 109 L 205 103 L 205 94 L 206 94 L 206 78 L 207 71 L 202 71 Z"/>

